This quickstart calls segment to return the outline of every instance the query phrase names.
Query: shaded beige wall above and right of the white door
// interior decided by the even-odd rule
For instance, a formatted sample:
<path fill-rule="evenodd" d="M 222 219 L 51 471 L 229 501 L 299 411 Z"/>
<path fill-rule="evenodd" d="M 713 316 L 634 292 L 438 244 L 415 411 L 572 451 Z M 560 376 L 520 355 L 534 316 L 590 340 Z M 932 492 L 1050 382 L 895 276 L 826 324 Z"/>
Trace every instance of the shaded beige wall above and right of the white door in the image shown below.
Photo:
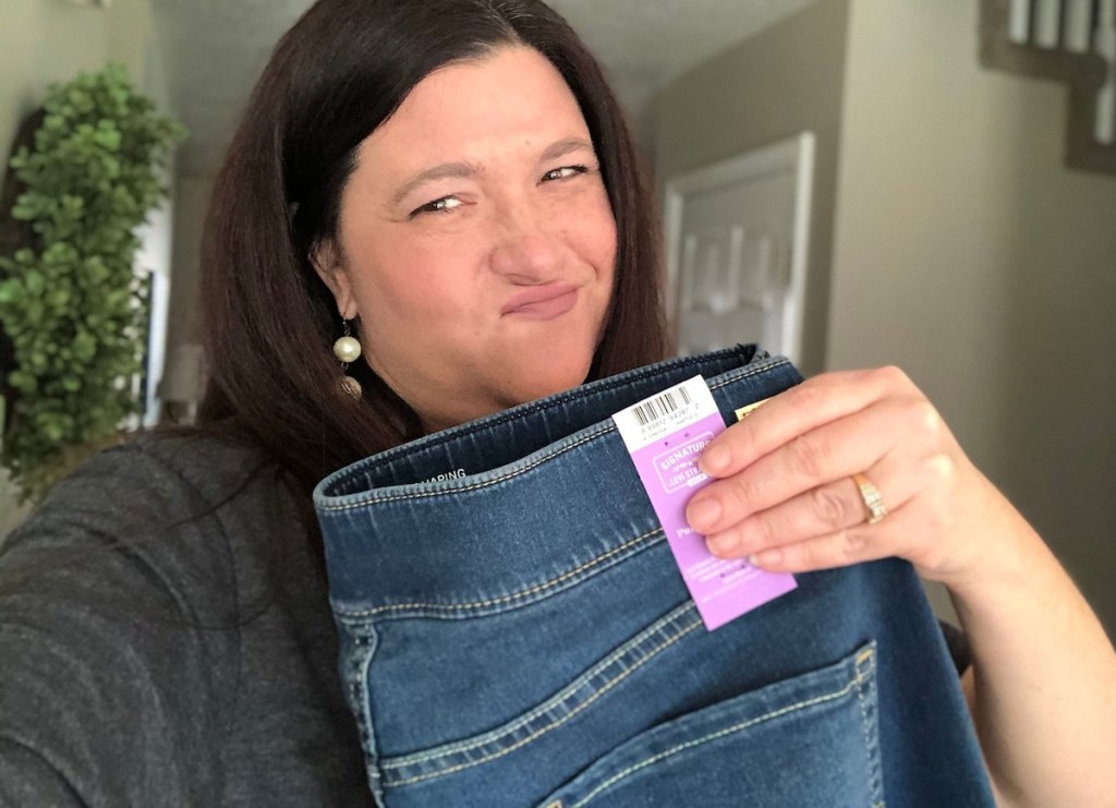
<path fill-rule="evenodd" d="M 661 181 L 809 129 L 817 135 L 806 337 L 825 358 L 847 0 L 825 0 L 704 62 L 657 99 Z"/>

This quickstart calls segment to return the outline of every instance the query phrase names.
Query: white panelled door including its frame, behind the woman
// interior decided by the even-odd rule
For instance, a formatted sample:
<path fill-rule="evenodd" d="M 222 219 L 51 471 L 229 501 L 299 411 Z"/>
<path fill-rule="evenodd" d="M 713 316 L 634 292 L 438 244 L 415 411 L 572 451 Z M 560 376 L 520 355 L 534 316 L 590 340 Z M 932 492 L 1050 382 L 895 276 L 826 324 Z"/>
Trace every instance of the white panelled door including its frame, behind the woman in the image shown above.
<path fill-rule="evenodd" d="M 814 136 L 666 184 L 667 312 L 683 356 L 759 343 L 799 362 Z"/>

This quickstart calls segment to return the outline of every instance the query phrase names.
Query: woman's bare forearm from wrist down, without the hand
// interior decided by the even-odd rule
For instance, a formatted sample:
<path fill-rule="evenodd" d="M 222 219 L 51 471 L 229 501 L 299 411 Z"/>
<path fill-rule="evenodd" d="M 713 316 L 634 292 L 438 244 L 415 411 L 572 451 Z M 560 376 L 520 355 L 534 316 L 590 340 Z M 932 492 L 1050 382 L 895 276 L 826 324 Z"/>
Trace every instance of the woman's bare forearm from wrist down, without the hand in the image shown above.
<path fill-rule="evenodd" d="M 1011 540 L 979 578 L 946 585 L 972 646 L 964 684 L 997 796 L 1116 806 L 1116 652 L 1033 529 L 998 493 L 988 501 L 985 523 Z"/>

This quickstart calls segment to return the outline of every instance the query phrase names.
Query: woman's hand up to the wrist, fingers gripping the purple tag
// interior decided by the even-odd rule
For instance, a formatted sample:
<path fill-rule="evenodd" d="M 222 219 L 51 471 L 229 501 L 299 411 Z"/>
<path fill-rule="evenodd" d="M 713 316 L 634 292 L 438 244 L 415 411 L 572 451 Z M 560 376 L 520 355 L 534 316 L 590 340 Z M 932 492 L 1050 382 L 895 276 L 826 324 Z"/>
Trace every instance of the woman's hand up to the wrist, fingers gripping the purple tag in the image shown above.
<path fill-rule="evenodd" d="M 829 373 L 771 398 L 710 443 L 716 480 L 690 501 L 718 556 L 800 573 L 899 556 L 947 585 L 984 575 L 1010 510 L 934 406 L 893 367 Z M 869 525 L 853 475 L 887 514 Z M 982 569 L 978 570 L 978 565 Z"/>

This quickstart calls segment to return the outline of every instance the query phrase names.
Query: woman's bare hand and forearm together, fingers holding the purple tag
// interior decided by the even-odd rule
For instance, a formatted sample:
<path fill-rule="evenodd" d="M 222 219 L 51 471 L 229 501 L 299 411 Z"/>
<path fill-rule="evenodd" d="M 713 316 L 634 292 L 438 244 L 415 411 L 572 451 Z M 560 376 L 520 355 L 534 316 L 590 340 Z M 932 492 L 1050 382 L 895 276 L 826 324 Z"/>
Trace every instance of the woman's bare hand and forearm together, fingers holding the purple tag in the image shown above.
<path fill-rule="evenodd" d="M 799 573 L 901 556 L 943 581 L 998 805 L 1113 805 L 1116 653 L 1038 533 L 895 368 L 830 373 L 706 448 L 686 517 L 716 555 Z M 879 490 L 869 525 L 853 474 Z"/>

